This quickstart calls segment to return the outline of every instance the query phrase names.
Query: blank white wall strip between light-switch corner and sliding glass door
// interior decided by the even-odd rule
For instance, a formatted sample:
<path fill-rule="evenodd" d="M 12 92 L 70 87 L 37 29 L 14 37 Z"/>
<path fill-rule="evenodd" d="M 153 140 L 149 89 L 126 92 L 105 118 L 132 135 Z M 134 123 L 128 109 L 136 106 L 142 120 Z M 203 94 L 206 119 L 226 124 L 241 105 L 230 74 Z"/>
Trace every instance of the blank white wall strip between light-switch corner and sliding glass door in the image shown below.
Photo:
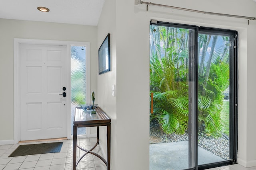
<path fill-rule="evenodd" d="M 148 170 L 149 19 L 134 1 L 116 4 L 117 169 Z"/>

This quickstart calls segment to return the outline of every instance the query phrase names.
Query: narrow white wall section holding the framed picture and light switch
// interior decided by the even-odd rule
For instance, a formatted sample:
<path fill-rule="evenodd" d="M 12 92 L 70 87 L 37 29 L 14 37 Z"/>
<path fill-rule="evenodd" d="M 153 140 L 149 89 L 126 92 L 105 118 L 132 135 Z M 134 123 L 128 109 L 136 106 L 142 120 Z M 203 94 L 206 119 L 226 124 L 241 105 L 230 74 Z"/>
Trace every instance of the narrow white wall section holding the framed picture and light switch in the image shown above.
<path fill-rule="evenodd" d="M 118 84 L 116 82 L 116 0 L 106 0 L 98 23 L 98 48 L 110 33 L 110 72 L 98 75 L 98 106 L 100 106 L 111 118 L 111 169 L 116 168 L 117 152 L 117 114 L 116 100 L 118 96 Z M 112 85 L 116 86 L 116 96 L 112 96 Z M 100 146 L 106 158 L 106 127 L 100 127 Z"/>

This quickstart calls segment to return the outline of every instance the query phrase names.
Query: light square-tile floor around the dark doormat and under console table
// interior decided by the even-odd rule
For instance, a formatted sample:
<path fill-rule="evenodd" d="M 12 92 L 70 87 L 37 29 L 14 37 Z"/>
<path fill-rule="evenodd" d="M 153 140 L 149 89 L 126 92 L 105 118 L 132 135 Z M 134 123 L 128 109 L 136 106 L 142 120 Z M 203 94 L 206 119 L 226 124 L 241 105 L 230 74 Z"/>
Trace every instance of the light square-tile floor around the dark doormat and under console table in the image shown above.
<path fill-rule="evenodd" d="M 78 144 L 84 149 L 91 149 L 96 138 L 78 139 Z M 72 170 L 72 140 L 63 141 L 62 149 L 58 153 L 37 154 L 28 156 L 8 156 L 19 146 L 24 144 L 60 142 L 60 141 L 41 141 L 32 143 L 19 143 L 14 145 L 0 145 L 0 170 Z M 97 146 L 94 152 L 102 156 L 100 147 Z M 77 150 L 77 159 L 84 151 Z M 87 154 L 78 164 L 76 170 L 106 170 L 106 165 L 100 158 L 92 154 Z"/>

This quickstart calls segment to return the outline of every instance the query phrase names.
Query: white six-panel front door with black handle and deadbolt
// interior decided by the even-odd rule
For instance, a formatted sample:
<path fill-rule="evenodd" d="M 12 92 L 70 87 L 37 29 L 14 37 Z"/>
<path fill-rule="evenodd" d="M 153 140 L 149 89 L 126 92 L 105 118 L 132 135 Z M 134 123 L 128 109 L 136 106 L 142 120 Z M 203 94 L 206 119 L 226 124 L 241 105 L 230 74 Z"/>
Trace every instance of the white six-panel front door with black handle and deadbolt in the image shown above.
<path fill-rule="evenodd" d="M 66 46 L 20 44 L 21 141 L 67 137 L 66 69 Z"/>

